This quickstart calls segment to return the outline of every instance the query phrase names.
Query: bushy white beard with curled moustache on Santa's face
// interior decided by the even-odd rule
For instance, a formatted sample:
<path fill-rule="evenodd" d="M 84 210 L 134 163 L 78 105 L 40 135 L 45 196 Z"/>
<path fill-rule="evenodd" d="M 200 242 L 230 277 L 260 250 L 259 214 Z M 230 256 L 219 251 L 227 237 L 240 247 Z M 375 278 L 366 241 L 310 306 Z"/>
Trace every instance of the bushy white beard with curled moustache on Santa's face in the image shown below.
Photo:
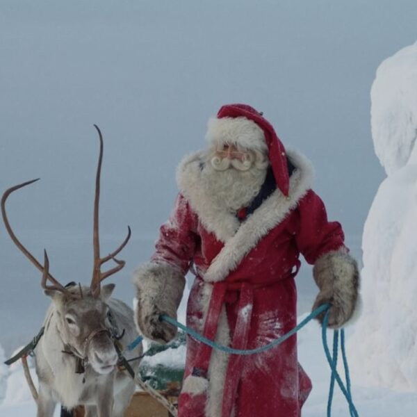
<path fill-rule="evenodd" d="M 265 181 L 267 167 L 241 171 L 231 165 L 227 170 L 216 170 L 209 161 L 203 167 L 202 181 L 213 204 L 220 209 L 235 213 L 247 207 L 258 195 Z"/>

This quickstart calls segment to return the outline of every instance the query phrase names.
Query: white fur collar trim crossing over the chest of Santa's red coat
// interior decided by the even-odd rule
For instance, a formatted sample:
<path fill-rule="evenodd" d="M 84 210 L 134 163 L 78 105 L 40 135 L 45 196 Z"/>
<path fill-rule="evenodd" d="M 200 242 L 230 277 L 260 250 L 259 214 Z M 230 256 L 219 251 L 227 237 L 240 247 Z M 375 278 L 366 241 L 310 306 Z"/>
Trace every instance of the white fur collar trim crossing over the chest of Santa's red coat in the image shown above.
<path fill-rule="evenodd" d="M 184 159 L 177 179 L 181 193 L 199 216 L 204 227 L 224 242 L 224 247 L 204 274 L 205 281 L 222 281 L 243 257 L 274 227 L 282 222 L 300 199 L 306 195 L 313 181 L 313 167 L 302 154 L 287 150 L 288 158 L 297 168 L 290 178 L 290 193 L 285 197 L 277 188 L 245 222 L 227 211 L 213 208 L 211 196 L 201 186 L 203 152 Z"/>

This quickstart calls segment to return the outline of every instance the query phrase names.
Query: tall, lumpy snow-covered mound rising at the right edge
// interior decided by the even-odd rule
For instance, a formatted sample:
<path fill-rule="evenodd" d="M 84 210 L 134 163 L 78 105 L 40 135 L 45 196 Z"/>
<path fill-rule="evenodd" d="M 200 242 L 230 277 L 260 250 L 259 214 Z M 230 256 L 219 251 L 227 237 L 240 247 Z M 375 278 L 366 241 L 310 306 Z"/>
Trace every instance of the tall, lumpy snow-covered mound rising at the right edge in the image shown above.
<path fill-rule="evenodd" d="M 371 98 L 375 152 L 388 177 L 363 230 L 352 373 L 367 386 L 417 391 L 417 44 L 382 63 Z"/>

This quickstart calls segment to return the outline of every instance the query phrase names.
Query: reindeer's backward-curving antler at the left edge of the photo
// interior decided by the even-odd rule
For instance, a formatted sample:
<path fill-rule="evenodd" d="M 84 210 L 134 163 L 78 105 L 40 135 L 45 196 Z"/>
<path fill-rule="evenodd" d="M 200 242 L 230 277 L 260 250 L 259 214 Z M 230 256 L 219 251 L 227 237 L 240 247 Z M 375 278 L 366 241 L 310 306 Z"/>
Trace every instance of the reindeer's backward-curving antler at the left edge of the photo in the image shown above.
<path fill-rule="evenodd" d="M 31 263 L 33 263 L 33 265 L 35 265 L 35 267 L 38 268 L 38 270 L 40 270 L 40 272 L 42 272 L 42 288 L 49 289 L 49 290 L 57 290 L 57 291 L 60 291 L 60 292 L 64 293 L 65 295 L 67 295 L 67 297 L 78 298 L 77 294 L 70 293 L 70 291 L 68 291 L 67 288 L 65 288 L 65 286 L 60 284 L 54 277 L 52 277 L 51 274 L 49 274 L 49 261 L 48 261 L 48 257 L 47 257 L 46 252 L 44 252 L 45 266 L 43 267 L 38 262 L 38 260 L 35 258 L 35 256 L 33 256 L 31 254 L 31 252 L 29 252 L 26 249 L 26 247 L 24 247 L 24 245 L 22 245 L 22 243 L 20 243 L 19 239 L 17 239 L 15 233 L 13 232 L 12 227 L 10 227 L 10 222 L 8 221 L 8 217 L 7 217 L 7 213 L 6 213 L 6 200 L 8 199 L 8 196 L 11 193 L 13 193 L 13 191 L 19 190 L 19 188 L 23 188 L 25 186 L 28 186 L 29 184 L 34 183 L 35 181 L 38 181 L 38 180 L 39 180 L 39 178 L 38 179 L 33 179 L 31 181 L 26 181 L 26 182 L 21 183 L 17 186 L 13 186 L 13 187 L 8 188 L 3 193 L 3 197 L 1 197 L 1 215 L 3 217 L 4 225 L 6 226 L 6 230 L 8 231 L 8 234 L 9 234 L 10 238 L 13 240 L 13 242 L 19 248 L 19 250 L 21 250 L 23 252 L 23 254 L 26 256 L 26 258 L 28 258 L 29 261 L 31 261 Z M 52 286 L 47 286 L 46 282 L 47 282 L 48 279 L 53 284 Z"/>

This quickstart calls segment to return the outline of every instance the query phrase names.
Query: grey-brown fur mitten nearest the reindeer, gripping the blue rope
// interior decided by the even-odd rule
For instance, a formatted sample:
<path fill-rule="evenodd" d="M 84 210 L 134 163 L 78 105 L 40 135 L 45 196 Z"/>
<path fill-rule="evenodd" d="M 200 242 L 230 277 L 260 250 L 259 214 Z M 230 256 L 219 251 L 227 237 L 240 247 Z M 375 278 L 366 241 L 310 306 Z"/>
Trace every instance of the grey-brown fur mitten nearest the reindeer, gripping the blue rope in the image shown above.
<path fill-rule="evenodd" d="M 177 319 L 177 309 L 185 285 L 183 274 L 168 263 L 147 263 L 136 270 L 135 322 L 145 337 L 159 343 L 167 343 L 177 334 L 177 327 L 162 322 L 166 314 Z"/>

